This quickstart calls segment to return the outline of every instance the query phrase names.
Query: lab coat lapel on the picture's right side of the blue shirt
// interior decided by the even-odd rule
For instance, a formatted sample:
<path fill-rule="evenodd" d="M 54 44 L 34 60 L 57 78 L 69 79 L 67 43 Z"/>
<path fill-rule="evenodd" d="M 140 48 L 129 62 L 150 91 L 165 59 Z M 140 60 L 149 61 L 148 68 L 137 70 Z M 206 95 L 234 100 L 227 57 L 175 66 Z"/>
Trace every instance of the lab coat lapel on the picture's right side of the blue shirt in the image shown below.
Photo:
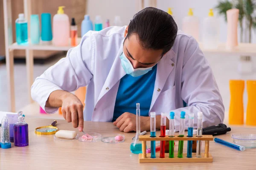
<path fill-rule="evenodd" d="M 157 64 L 157 75 L 149 111 L 151 111 L 154 103 L 156 102 L 157 97 L 159 96 L 166 83 L 166 80 L 169 77 L 169 74 L 172 72 L 173 68 L 175 68 L 175 63 L 171 60 L 174 56 L 175 53 L 171 49 Z M 160 89 L 160 91 L 158 89 Z"/>

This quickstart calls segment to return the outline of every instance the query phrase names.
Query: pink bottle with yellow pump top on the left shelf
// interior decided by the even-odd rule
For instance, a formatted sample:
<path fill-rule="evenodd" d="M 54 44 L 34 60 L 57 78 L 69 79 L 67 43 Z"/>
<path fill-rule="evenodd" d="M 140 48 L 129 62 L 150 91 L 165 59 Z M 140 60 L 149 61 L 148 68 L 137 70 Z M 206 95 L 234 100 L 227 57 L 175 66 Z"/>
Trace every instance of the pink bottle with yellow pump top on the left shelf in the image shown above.
<path fill-rule="evenodd" d="M 52 20 L 52 41 L 56 46 L 68 46 L 70 38 L 70 22 L 67 14 L 64 14 L 64 6 L 58 7 L 57 14 Z"/>

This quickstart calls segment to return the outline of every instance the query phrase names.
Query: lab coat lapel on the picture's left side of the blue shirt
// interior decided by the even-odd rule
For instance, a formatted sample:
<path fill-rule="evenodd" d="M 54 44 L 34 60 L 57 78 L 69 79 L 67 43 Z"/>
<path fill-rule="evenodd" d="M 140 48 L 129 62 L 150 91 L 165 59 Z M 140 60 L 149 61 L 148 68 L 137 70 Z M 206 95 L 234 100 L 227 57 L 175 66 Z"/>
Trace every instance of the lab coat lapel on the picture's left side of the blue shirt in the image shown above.
<path fill-rule="evenodd" d="M 122 50 L 123 50 L 122 44 L 123 44 L 123 42 L 121 43 L 119 52 L 116 54 L 116 58 L 113 62 L 113 65 L 112 65 L 110 71 L 109 71 L 108 77 L 102 87 L 102 90 L 99 94 L 97 102 L 99 102 L 99 100 L 102 98 L 102 96 L 104 96 L 108 91 L 110 91 L 111 88 L 126 74 L 125 70 L 122 68 L 121 59 L 119 58 L 122 53 Z"/>

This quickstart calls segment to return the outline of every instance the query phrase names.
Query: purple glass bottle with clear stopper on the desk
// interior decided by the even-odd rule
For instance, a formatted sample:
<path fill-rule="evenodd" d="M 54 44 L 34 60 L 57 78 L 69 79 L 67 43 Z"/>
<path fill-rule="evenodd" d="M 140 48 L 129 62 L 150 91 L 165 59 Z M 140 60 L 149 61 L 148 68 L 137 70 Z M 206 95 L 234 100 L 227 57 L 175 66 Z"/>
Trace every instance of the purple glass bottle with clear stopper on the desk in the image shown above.
<path fill-rule="evenodd" d="M 29 145 L 29 125 L 24 121 L 25 115 L 22 111 L 18 112 L 18 122 L 13 126 L 14 145 L 28 146 Z"/>

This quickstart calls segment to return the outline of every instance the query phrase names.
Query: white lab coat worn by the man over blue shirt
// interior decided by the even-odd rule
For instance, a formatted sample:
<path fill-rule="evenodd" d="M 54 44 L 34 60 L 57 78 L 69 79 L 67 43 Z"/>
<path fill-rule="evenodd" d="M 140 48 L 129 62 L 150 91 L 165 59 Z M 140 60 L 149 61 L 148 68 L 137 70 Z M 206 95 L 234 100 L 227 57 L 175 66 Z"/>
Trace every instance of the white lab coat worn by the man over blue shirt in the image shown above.
<path fill-rule="evenodd" d="M 119 82 L 125 76 L 119 58 L 125 28 L 109 27 L 85 34 L 81 43 L 67 52 L 67 57 L 35 79 L 32 99 L 47 113 L 55 113 L 58 108 L 45 107 L 52 91 L 75 91 L 87 86 L 84 120 L 111 122 Z M 183 100 L 188 107 L 183 108 Z M 204 127 L 224 120 L 224 105 L 209 63 L 196 40 L 182 31 L 178 31 L 172 49 L 157 64 L 151 111 L 174 111 L 176 130 L 180 111 L 195 113 L 195 118 L 202 111 Z"/>

